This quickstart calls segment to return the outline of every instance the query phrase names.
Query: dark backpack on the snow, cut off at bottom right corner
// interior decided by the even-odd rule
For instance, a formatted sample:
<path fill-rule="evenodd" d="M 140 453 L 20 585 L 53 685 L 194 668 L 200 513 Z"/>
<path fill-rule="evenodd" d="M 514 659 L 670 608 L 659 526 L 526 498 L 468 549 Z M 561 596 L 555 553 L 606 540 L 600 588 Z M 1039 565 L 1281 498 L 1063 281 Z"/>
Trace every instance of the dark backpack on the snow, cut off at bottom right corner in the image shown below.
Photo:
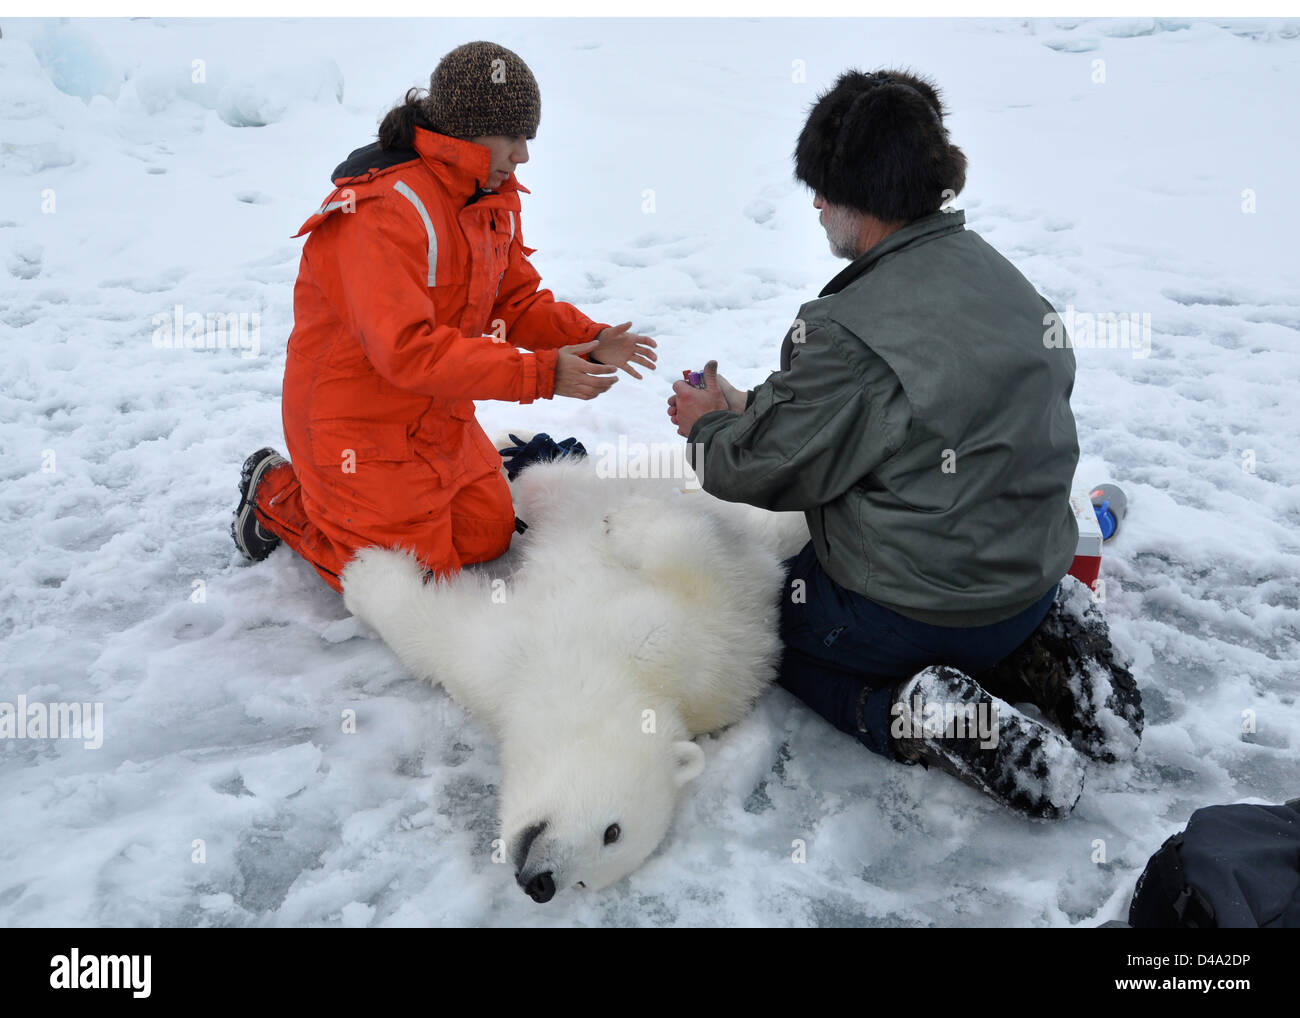
<path fill-rule="evenodd" d="M 1300 798 L 1196 810 L 1138 878 L 1128 924 L 1300 928 Z"/>

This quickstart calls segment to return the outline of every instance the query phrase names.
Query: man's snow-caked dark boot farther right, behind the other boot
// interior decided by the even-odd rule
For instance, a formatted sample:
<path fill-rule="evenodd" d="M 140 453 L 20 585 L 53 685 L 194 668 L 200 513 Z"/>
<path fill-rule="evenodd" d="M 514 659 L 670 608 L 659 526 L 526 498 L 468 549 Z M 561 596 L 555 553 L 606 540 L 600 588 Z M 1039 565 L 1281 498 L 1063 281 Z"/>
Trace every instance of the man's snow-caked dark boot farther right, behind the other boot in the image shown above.
<path fill-rule="evenodd" d="M 1034 703 L 1093 759 L 1115 763 L 1138 753 L 1141 693 L 1117 659 L 1101 608 L 1072 576 L 1061 580 L 1030 638 L 979 681 L 1011 703 Z"/>

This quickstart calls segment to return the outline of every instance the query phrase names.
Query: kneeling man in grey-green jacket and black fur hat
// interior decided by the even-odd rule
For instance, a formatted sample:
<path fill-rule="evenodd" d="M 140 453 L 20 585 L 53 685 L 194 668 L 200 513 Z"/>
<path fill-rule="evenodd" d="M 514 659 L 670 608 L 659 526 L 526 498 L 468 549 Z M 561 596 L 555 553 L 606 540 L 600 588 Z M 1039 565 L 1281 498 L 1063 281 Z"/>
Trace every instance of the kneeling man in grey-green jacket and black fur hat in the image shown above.
<path fill-rule="evenodd" d="M 1141 707 L 1086 588 L 1062 584 L 1074 352 L 1044 342 L 1052 304 L 946 207 L 966 157 L 942 117 L 900 72 L 819 98 L 796 176 L 850 264 L 800 308 L 763 385 L 740 393 L 710 361 L 668 412 L 706 491 L 806 514 L 780 683 L 878 753 L 1063 816 L 1075 750 L 1131 755 Z"/>

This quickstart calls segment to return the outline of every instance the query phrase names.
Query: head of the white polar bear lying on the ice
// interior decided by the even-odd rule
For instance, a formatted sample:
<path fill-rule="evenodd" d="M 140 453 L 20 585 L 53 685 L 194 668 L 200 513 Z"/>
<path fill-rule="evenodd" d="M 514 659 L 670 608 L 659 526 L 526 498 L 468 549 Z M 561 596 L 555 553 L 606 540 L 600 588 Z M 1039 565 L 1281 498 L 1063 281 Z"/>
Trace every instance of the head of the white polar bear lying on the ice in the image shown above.
<path fill-rule="evenodd" d="M 533 901 L 608 887 L 646 861 L 682 785 L 705 767 L 703 750 L 680 735 L 619 737 L 602 727 L 566 733 L 549 751 L 503 757 L 502 835 Z"/>

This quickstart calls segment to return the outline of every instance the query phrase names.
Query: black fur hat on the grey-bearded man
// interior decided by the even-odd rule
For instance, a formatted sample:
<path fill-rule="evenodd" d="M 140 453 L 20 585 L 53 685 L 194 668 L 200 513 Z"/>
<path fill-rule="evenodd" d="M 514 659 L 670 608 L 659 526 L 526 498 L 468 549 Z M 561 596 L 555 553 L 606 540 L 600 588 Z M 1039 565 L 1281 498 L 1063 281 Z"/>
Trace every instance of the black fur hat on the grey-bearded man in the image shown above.
<path fill-rule="evenodd" d="M 794 176 L 836 205 L 884 222 L 937 212 L 966 186 L 939 90 L 901 70 L 850 70 L 818 96 L 794 147 Z"/>

